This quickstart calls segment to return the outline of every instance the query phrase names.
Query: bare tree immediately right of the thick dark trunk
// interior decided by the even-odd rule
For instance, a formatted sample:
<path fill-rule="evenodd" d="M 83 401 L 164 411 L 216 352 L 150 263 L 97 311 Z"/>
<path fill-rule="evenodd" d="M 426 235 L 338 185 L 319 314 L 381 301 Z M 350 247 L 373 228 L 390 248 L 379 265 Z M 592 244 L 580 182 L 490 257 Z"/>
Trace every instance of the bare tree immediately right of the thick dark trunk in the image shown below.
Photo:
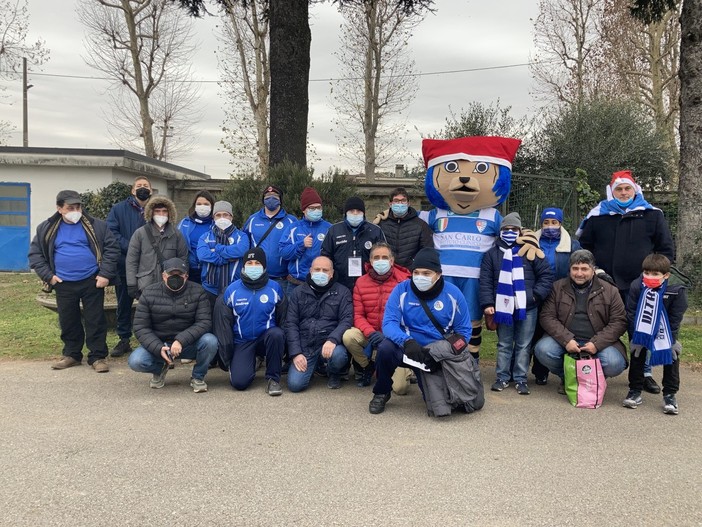
<path fill-rule="evenodd" d="M 392 0 L 342 6 L 341 77 L 332 89 L 341 154 L 363 163 L 366 181 L 401 150 L 399 119 L 417 92 L 414 61 L 407 52 L 422 15 Z"/>

